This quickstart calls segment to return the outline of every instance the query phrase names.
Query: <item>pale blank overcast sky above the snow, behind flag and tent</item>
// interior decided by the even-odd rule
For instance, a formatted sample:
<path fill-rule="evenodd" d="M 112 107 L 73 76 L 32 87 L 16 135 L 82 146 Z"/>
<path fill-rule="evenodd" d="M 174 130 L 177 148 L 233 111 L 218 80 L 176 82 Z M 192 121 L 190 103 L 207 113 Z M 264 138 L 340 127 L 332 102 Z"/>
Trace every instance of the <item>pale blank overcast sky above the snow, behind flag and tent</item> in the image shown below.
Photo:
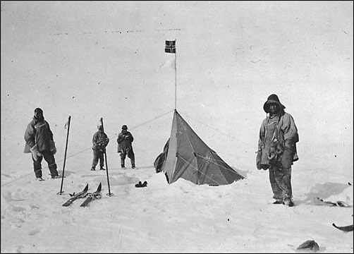
<path fill-rule="evenodd" d="M 73 116 L 79 151 L 100 117 L 111 136 L 122 124 L 153 133 L 152 164 L 172 114 L 142 123 L 174 108 L 165 40 L 176 40 L 178 111 L 232 166 L 255 169 L 276 93 L 298 126 L 299 163 L 353 176 L 352 1 L 1 1 L 1 168 L 22 154 L 36 107 L 62 147 Z"/>

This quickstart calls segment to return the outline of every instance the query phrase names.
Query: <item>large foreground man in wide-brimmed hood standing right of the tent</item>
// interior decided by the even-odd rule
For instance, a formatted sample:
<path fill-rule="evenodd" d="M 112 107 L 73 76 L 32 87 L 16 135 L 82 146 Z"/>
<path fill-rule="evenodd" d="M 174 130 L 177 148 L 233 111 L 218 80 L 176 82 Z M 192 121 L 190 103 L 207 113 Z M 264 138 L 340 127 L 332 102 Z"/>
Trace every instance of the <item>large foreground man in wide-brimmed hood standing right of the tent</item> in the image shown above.
<path fill-rule="evenodd" d="M 262 121 L 256 157 L 257 169 L 269 169 L 274 204 L 292 207 L 291 165 L 298 160 L 298 128 L 291 114 L 284 111 L 277 95 L 269 95 L 263 105 L 269 114 Z"/>

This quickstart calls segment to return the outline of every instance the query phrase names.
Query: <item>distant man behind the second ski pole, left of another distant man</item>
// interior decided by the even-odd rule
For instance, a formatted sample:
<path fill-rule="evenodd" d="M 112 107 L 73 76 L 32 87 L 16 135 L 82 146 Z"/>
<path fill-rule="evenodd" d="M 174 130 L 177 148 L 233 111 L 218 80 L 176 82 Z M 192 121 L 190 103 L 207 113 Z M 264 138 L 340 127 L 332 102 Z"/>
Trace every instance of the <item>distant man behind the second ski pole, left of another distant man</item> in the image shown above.
<path fill-rule="evenodd" d="M 91 170 L 96 170 L 96 166 L 99 161 L 99 169 L 104 169 L 104 152 L 106 152 L 106 146 L 109 143 L 109 138 L 103 131 L 102 123 L 99 123 L 97 126 L 98 131 L 94 133 L 92 138 L 92 150 L 93 150 L 93 159 Z"/>

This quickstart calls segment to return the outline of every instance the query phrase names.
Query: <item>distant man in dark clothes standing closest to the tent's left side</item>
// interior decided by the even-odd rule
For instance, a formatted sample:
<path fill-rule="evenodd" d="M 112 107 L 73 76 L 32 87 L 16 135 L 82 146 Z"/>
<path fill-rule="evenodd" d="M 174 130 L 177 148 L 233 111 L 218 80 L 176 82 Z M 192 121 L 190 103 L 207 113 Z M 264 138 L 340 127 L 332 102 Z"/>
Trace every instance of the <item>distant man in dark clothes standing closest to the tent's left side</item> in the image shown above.
<path fill-rule="evenodd" d="M 118 134 L 117 143 L 118 143 L 118 153 L 121 155 L 121 167 L 122 169 L 126 168 L 125 160 L 126 156 L 130 159 L 132 164 L 132 169 L 135 169 L 135 155 L 133 151 L 133 135 L 128 131 L 128 126 L 123 125 L 121 133 Z"/>

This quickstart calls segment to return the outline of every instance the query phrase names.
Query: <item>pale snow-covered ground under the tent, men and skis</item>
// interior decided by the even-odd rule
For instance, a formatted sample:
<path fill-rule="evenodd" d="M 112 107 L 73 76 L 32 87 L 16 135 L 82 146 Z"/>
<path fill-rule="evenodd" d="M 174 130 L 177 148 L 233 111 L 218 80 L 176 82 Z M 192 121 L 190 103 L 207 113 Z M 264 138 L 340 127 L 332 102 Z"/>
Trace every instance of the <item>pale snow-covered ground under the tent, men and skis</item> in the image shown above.
<path fill-rule="evenodd" d="M 1 253 L 295 253 L 314 240 L 324 253 L 353 253 L 353 185 L 348 179 L 316 179 L 294 169 L 295 207 L 273 205 L 268 172 L 253 171 L 228 186 L 170 186 L 152 168 L 68 169 L 61 179 L 26 177 L 1 186 Z M 1 175 L 1 184 L 16 175 Z M 147 181 L 146 188 L 135 188 Z M 101 200 L 61 206 L 89 183 L 102 182 Z M 353 182 L 351 182 L 353 183 Z M 315 205 L 312 198 L 342 200 L 352 207 Z"/>

